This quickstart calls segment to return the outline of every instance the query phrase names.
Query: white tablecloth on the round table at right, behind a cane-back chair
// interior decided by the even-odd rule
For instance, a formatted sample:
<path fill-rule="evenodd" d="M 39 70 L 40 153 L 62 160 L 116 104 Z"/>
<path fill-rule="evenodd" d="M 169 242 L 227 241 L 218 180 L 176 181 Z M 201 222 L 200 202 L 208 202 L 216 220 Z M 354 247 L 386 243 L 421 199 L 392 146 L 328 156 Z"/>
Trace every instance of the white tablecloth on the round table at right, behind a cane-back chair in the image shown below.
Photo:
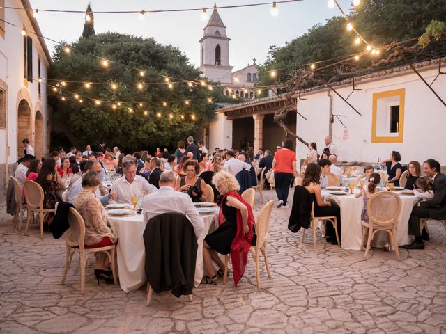
<path fill-rule="evenodd" d="M 357 190 L 355 191 L 357 192 Z M 322 191 L 322 196 L 330 197 L 341 208 L 341 247 L 344 249 L 361 250 L 362 225 L 361 212 L 363 204 L 362 197 L 355 198 L 354 195 L 334 196 L 328 191 Z M 412 208 L 417 202 L 415 196 L 399 194 L 401 198 L 401 213 L 397 223 L 397 244 L 399 246 L 410 244 L 411 237 L 408 234 L 408 221 Z M 387 244 L 387 232 L 377 232 L 371 246 L 383 247 Z"/>

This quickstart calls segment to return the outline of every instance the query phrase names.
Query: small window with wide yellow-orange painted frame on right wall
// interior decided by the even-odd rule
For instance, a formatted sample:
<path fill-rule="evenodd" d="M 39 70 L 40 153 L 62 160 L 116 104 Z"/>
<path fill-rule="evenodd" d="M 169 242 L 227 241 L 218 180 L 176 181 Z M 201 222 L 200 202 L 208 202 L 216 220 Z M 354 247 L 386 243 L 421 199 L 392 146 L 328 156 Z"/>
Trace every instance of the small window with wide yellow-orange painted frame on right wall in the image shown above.
<path fill-rule="evenodd" d="M 372 143 L 403 143 L 405 89 L 374 93 Z"/>

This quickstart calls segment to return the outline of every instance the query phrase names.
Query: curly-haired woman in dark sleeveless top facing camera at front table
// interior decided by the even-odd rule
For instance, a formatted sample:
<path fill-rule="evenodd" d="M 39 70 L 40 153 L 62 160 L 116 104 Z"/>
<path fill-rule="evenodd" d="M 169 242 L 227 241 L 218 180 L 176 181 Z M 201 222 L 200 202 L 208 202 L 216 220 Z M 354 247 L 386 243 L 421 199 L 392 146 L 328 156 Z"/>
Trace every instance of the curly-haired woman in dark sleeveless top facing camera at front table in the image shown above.
<path fill-rule="evenodd" d="M 177 191 L 187 193 L 192 202 L 206 202 L 206 183 L 198 176 L 200 167 L 195 160 L 186 161 L 184 164 L 185 177 L 181 177 L 180 184 L 177 184 Z"/>

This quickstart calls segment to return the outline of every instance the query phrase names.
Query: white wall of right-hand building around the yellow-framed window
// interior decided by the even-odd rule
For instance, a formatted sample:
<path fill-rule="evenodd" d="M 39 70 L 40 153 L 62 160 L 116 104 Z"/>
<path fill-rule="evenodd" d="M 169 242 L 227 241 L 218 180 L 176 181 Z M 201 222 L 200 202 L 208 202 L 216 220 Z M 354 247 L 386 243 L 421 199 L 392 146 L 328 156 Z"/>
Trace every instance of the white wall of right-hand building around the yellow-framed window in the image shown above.
<path fill-rule="evenodd" d="M 438 67 L 422 70 L 422 76 L 429 83 L 438 74 Z M 440 164 L 446 164 L 445 125 L 446 107 L 437 99 L 429 88 L 413 72 L 404 72 L 398 77 L 387 77 L 375 81 L 357 84 L 357 88 L 348 98 L 355 108 L 362 113 L 357 115 L 340 97 L 333 92 L 333 114 L 345 115 L 342 122 L 348 129 L 348 138 L 344 136 L 344 127 L 335 119 L 332 127 L 332 141 L 337 145 L 340 161 L 378 161 L 389 157 L 392 150 L 401 153 L 402 162 L 411 160 L 424 161 L 434 158 Z M 373 94 L 386 90 L 405 89 L 405 110 L 403 143 L 371 143 Z M 432 85 L 438 95 L 446 101 L 446 75 L 440 75 Z M 347 97 L 352 86 L 335 88 L 343 97 Z M 327 90 L 302 95 L 307 100 L 298 102 L 298 111 L 307 118 L 298 116 L 298 135 L 306 141 L 314 141 L 321 154 L 324 138 L 328 135 L 328 118 L 330 100 Z M 308 148 L 298 142 L 298 159 L 304 159 Z"/>

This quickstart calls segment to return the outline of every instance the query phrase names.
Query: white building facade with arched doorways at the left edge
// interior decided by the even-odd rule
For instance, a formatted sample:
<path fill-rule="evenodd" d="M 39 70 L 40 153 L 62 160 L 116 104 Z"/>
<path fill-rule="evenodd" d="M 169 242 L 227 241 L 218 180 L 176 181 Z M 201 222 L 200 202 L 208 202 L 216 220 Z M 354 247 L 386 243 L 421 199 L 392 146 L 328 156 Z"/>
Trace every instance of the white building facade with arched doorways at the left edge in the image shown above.
<path fill-rule="evenodd" d="M 3 6 L 3 5 L 1 5 Z M 36 156 L 42 157 L 49 150 L 49 108 L 45 81 L 50 66 L 50 55 L 42 38 L 36 19 L 32 15 L 29 1 L 8 1 L 6 6 L 29 8 L 29 10 L 5 9 L 0 17 L 5 23 L 0 28 L 0 117 L 6 116 L 6 126 L 0 127 L 0 165 L 3 166 L 0 178 L 6 180 L 8 164 L 13 164 L 23 155 L 22 139 L 29 138 Z M 26 36 L 22 35 L 22 27 Z M 24 74 L 24 38 L 30 37 L 32 43 L 32 82 Z M 23 137 L 23 138 L 22 138 Z"/>

